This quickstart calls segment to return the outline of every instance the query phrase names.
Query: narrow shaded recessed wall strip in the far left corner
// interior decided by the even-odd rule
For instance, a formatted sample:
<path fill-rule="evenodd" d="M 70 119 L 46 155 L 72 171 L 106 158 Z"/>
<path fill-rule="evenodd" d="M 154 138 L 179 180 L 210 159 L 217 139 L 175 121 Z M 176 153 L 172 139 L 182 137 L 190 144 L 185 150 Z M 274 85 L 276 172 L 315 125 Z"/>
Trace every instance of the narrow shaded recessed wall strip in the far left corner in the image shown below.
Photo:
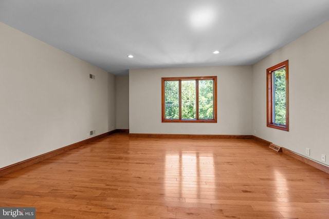
<path fill-rule="evenodd" d="M 129 75 L 116 76 L 117 129 L 129 129 Z"/>

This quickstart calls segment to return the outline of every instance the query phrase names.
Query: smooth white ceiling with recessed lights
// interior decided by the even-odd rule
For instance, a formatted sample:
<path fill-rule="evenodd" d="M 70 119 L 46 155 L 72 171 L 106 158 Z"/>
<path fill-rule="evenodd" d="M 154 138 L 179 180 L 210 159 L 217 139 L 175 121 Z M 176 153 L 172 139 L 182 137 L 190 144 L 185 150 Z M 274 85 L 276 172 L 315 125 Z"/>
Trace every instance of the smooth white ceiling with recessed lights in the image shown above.
<path fill-rule="evenodd" d="M 329 0 L 0 0 L 0 22 L 117 75 L 251 65 L 328 19 Z"/>

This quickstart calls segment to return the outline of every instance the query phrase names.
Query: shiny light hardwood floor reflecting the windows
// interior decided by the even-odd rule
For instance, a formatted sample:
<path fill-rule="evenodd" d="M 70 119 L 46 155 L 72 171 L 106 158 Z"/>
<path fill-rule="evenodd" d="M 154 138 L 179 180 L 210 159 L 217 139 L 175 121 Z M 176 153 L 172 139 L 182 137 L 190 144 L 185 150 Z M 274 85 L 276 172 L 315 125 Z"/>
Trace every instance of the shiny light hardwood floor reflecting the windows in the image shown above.
<path fill-rule="evenodd" d="M 116 133 L 0 177 L 36 218 L 329 218 L 329 174 L 254 140 Z"/>

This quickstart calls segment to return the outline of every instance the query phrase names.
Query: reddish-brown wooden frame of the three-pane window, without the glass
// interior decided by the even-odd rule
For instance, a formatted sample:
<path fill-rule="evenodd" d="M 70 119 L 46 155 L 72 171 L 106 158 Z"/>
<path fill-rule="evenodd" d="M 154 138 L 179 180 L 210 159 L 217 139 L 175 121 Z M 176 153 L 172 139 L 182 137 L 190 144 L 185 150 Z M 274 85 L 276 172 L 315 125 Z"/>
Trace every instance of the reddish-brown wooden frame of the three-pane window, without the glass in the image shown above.
<path fill-rule="evenodd" d="M 213 79 L 213 119 L 203 120 L 198 118 L 199 108 L 198 108 L 198 98 L 199 98 L 199 88 L 198 81 L 204 79 Z M 196 119 L 194 120 L 184 120 L 181 118 L 181 81 L 195 80 L 195 91 L 196 91 Z M 166 81 L 178 81 L 179 82 L 179 118 L 178 119 L 166 119 L 165 115 L 165 82 Z M 161 78 L 161 105 L 162 105 L 162 123 L 217 123 L 217 76 L 204 76 L 204 77 L 162 77 Z"/>

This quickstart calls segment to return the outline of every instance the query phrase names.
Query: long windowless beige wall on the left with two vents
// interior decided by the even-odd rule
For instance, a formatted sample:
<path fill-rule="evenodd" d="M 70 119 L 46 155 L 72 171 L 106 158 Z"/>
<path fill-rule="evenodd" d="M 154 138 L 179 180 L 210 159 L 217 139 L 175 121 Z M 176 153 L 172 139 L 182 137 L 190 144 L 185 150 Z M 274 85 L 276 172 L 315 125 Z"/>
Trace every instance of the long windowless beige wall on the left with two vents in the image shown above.
<path fill-rule="evenodd" d="M 3 23 L 0 48 L 0 168 L 115 126 L 113 75 Z"/>

